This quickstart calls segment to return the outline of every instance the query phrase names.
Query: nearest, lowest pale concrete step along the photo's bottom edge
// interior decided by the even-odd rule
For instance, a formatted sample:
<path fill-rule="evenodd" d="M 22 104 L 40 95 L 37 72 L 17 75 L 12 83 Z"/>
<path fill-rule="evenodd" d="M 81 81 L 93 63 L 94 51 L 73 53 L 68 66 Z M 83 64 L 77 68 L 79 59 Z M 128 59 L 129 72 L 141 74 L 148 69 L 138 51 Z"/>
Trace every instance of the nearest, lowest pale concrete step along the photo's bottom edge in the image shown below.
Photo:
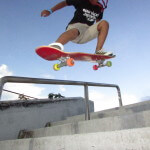
<path fill-rule="evenodd" d="M 0 141 L 0 150 L 149 150 L 150 128 Z"/>

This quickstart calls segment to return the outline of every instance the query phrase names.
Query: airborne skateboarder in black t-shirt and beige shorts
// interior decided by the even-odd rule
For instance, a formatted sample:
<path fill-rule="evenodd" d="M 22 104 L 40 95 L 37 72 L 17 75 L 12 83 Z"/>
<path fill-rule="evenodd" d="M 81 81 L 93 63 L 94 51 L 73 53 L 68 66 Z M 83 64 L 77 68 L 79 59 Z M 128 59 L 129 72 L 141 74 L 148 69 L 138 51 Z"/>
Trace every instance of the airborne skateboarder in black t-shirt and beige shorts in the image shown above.
<path fill-rule="evenodd" d="M 98 2 L 98 0 L 65 0 L 49 10 L 43 10 L 41 17 L 47 17 L 66 6 L 74 6 L 76 9 L 73 19 L 66 27 L 66 31 L 60 35 L 55 43 L 49 46 L 63 51 L 63 45 L 69 41 L 82 44 L 97 37 L 95 53 L 113 55 L 111 52 L 104 52 L 102 50 L 109 30 L 109 23 L 105 20 L 101 20 L 107 3 L 108 0 L 106 0 L 106 2 L 102 0 L 102 3 Z"/>

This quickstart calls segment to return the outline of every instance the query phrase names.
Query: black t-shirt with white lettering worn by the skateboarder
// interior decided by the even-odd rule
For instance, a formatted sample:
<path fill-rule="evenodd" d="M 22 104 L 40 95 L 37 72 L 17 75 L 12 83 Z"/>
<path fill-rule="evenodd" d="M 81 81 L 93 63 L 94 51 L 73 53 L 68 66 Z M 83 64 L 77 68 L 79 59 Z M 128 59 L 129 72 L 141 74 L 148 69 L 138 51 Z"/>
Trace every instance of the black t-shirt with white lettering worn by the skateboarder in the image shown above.
<path fill-rule="evenodd" d="M 89 0 L 66 0 L 67 5 L 73 5 L 76 9 L 73 19 L 69 24 L 84 23 L 89 26 L 97 19 L 102 19 L 103 8 L 100 3 L 92 5 Z"/>

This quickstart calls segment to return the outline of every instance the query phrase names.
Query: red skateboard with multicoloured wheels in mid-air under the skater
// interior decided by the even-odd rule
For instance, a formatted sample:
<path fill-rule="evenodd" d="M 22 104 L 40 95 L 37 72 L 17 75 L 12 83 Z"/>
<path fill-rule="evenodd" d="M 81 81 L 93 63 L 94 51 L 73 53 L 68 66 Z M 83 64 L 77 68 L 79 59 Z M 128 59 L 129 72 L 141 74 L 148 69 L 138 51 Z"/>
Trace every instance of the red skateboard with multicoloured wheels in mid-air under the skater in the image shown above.
<path fill-rule="evenodd" d="M 101 67 L 111 67 L 112 62 L 106 61 L 106 59 L 111 59 L 115 57 L 113 56 L 105 56 L 99 54 L 89 54 L 89 53 L 81 53 L 81 52 L 64 52 L 57 48 L 49 47 L 49 46 L 40 46 L 35 49 L 36 53 L 45 60 L 55 61 L 58 60 L 59 63 L 53 65 L 53 69 L 58 71 L 60 68 L 64 66 L 74 66 L 75 61 L 87 61 L 93 62 L 97 65 L 93 65 L 93 70 L 98 70 Z"/>

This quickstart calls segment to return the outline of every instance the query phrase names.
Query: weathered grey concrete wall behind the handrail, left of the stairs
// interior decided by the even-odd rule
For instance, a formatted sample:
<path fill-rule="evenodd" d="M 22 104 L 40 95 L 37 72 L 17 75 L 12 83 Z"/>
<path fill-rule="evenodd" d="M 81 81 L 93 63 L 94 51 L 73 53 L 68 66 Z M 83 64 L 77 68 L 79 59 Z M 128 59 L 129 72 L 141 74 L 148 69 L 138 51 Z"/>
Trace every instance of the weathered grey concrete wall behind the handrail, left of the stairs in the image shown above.
<path fill-rule="evenodd" d="M 94 103 L 90 101 L 90 112 Z M 16 139 L 20 130 L 44 127 L 47 122 L 85 113 L 83 98 L 0 102 L 0 140 Z"/>

